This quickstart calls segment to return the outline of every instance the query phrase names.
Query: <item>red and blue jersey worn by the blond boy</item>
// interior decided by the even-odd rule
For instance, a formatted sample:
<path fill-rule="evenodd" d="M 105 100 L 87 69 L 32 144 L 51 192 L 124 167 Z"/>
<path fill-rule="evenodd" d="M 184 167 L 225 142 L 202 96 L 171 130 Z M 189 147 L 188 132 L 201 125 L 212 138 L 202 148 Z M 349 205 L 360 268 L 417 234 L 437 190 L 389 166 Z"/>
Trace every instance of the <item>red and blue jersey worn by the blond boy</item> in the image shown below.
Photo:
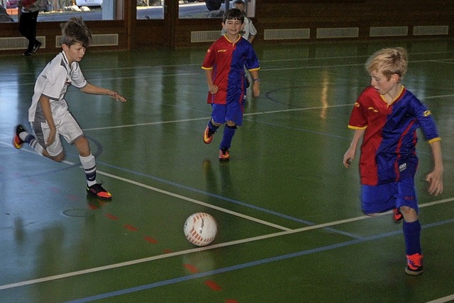
<path fill-rule="evenodd" d="M 353 107 L 348 127 L 365 129 L 360 156 L 363 185 L 414 178 L 419 127 L 428 142 L 440 140 L 431 111 L 404 87 L 391 105 L 372 86 L 365 88 Z"/>

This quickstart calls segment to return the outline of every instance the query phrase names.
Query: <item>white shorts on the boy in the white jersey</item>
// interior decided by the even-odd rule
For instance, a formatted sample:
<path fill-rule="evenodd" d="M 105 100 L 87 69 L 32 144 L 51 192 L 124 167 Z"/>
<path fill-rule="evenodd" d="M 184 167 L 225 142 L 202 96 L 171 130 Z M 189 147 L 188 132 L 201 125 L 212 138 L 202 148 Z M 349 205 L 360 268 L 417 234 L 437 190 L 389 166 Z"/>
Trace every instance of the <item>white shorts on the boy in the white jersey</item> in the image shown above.
<path fill-rule="evenodd" d="M 48 147 L 48 138 L 50 135 L 50 127 L 47 122 L 31 122 L 33 132 L 38 143 L 48 151 L 50 156 L 57 156 L 63 152 L 62 142 L 60 135 L 63 136 L 66 142 L 72 144 L 77 138 L 82 137 L 84 132 L 80 128 L 77 121 L 68 112 L 61 120 L 55 121 L 55 127 L 57 127 L 57 135 L 55 135 L 55 141 Z"/>

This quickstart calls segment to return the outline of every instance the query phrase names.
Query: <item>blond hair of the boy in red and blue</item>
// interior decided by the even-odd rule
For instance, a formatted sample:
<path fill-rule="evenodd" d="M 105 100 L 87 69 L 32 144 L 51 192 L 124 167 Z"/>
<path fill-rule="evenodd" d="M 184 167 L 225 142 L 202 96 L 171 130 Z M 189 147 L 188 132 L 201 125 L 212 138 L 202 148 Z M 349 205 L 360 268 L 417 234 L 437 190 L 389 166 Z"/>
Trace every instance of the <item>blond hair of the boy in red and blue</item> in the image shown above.
<path fill-rule="evenodd" d="M 404 47 L 389 47 L 370 56 L 365 63 L 365 69 L 369 74 L 381 72 L 389 80 L 392 74 L 398 74 L 402 78 L 406 74 L 408 64 L 409 55 Z"/>

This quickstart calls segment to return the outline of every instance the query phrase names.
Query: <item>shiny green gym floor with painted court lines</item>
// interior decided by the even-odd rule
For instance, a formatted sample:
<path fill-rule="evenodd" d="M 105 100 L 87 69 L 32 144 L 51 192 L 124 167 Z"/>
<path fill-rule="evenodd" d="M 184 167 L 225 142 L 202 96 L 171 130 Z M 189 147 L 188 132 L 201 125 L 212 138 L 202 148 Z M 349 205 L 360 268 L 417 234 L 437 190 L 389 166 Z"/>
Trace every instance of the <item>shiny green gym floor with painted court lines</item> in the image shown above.
<path fill-rule="evenodd" d="M 445 190 L 426 191 L 422 135 L 416 176 L 425 272 L 404 273 L 402 225 L 360 210 L 358 157 L 342 165 L 348 118 L 369 84 L 367 57 L 409 51 L 404 85 L 443 138 Z M 98 181 L 87 197 L 77 151 L 63 163 L 14 149 L 29 128 L 35 78 L 54 55 L 0 57 L 0 302 L 447 302 L 454 299 L 454 41 L 258 45 L 261 96 L 218 161 L 221 132 L 202 141 L 211 108 L 206 47 L 87 52 L 84 76 L 128 98 L 70 88 Z M 183 234 L 194 212 L 218 222 L 210 246 Z"/>

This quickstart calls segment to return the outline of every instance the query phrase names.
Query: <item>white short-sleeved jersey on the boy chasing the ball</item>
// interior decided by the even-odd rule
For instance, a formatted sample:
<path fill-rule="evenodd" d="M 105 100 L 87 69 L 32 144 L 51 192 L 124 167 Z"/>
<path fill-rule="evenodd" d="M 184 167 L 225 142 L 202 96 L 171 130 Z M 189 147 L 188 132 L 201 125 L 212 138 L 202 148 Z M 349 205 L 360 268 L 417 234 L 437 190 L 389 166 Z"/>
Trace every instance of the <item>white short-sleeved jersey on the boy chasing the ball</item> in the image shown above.
<path fill-rule="evenodd" d="M 79 62 L 72 62 L 69 65 L 65 52 L 60 52 L 48 63 L 36 80 L 35 93 L 33 93 L 31 107 L 28 109 L 28 121 L 47 122 L 39 102 L 41 95 L 50 99 L 54 120 L 62 119 L 68 112 L 65 93 L 71 84 L 77 88 L 83 88 L 87 85 L 87 81 L 79 68 Z"/>

